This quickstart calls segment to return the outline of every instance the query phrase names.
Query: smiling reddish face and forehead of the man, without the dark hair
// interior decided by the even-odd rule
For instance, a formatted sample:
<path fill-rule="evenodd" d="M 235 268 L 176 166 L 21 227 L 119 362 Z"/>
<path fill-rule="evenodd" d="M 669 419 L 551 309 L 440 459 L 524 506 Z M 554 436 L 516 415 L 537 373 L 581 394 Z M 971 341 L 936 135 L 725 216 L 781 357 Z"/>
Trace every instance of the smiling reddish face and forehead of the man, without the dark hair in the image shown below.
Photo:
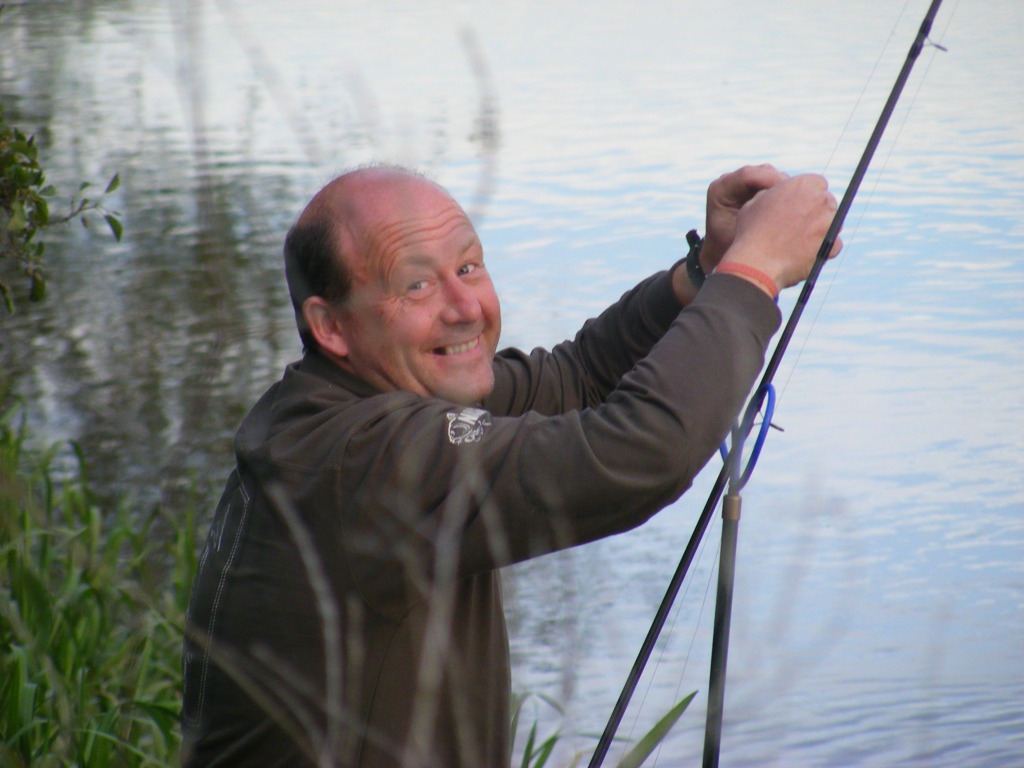
<path fill-rule="evenodd" d="M 384 390 L 465 404 L 494 387 L 501 310 L 469 218 L 443 190 L 416 178 L 368 197 L 361 223 L 342 234 L 352 272 L 339 309 L 345 367 Z"/>

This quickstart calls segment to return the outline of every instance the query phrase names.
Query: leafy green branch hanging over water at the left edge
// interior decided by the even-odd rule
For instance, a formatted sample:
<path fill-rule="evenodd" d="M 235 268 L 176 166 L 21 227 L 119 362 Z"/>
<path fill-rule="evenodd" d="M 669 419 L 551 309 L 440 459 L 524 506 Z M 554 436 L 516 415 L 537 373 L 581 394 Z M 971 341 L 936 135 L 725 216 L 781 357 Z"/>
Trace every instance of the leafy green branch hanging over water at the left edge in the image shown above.
<path fill-rule="evenodd" d="M 102 216 L 114 237 L 120 241 L 124 231 L 119 214 L 109 211 L 102 200 L 121 183 L 115 174 L 103 193 L 96 198 L 86 197 L 90 188 L 84 182 L 71 200 L 68 213 L 52 216 L 50 199 L 56 189 L 46 183 L 46 174 L 39 165 L 39 147 L 34 136 L 26 136 L 7 124 L 3 104 L 0 104 L 0 262 L 11 259 L 29 279 L 29 298 L 41 301 L 46 294 L 46 271 L 43 253 L 46 244 L 37 234 L 47 227 L 79 219 L 89 226 L 90 216 Z M 10 286 L 0 279 L 0 295 L 8 312 L 14 311 L 14 297 Z"/>

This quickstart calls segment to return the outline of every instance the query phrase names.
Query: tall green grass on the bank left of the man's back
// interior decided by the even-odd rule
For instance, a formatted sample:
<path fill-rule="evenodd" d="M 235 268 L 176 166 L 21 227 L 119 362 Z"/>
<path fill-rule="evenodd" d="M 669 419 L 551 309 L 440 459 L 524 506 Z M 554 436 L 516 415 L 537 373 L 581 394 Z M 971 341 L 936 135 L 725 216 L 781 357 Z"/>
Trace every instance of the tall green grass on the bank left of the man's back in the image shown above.
<path fill-rule="evenodd" d="M 0 416 L 0 766 L 176 765 L 193 515 L 158 545 L 158 513 L 99 509 L 77 446 L 25 437 Z"/>

